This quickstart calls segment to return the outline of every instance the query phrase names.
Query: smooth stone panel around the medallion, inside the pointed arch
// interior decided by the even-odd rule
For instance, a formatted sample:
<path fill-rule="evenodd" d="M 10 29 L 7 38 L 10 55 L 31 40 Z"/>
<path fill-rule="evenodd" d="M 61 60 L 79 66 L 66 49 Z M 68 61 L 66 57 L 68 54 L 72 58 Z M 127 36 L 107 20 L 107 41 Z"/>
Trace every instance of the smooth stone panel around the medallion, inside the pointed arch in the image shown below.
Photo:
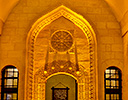
<path fill-rule="evenodd" d="M 68 31 L 73 38 L 73 45 L 68 50 L 68 54 L 67 52 L 56 51 L 51 45 L 51 37 L 58 30 Z M 75 54 L 76 46 L 77 55 Z M 58 60 L 69 60 L 75 64 L 76 58 L 78 59 L 79 65 L 83 66 L 85 70 L 89 69 L 90 66 L 89 43 L 87 37 L 84 35 L 81 29 L 64 17 L 60 17 L 41 30 L 36 38 L 34 51 L 34 70 L 36 71 L 38 71 L 38 69 L 43 67 L 46 63 L 52 63 L 53 61 Z"/>

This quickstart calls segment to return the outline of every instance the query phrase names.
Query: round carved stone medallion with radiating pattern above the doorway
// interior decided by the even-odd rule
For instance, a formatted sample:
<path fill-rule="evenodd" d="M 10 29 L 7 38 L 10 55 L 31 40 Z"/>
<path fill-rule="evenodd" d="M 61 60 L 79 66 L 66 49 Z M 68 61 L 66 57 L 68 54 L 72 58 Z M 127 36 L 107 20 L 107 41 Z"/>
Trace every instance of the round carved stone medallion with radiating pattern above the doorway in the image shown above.
<path fill-rule="evenodd" d="M 51 45 L 53 49 L 64 52 L 71 48 L 73 44 L 73 38 L 67 31 L 57 31 L 53 33 L 51 37 Z"/>

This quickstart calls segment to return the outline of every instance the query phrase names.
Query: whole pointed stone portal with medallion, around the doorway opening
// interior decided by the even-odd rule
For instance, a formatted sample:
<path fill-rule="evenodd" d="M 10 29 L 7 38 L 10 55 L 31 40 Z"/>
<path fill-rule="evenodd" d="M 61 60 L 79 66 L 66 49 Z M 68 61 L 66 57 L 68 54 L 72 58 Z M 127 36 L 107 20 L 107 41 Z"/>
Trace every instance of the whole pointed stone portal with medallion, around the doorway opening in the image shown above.
<path fill-rule="evenodd" d="M 60 6 L 41 17 L 27 39 L 25 99 L 45 100 L 47 78 L 66 73 L 77 80 L 78 100 L 96 100 L 96 52 L 94 31 L 82 16 Z"/>

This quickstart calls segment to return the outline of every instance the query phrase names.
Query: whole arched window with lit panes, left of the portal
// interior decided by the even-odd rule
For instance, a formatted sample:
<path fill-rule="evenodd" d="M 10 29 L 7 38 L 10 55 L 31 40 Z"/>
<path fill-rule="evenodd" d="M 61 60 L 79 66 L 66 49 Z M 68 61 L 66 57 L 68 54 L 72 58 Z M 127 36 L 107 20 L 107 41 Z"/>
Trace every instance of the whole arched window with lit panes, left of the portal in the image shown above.
<path fill-rule="evenodd" d="M 2 70 L 1 100 L 18 100 L 18 70 L 14 66 Z"/>

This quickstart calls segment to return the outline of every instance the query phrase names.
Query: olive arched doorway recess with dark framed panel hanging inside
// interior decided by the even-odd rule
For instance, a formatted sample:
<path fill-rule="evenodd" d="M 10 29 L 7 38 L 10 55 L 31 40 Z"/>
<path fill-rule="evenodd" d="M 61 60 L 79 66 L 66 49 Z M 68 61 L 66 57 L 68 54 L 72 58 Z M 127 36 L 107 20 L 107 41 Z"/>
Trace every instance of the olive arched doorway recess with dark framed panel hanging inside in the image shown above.
<path fill-rule="evenodd" d="M 55 93 L 53 93 L 53 88 L 56 89 Z M 46 100 L 53 100 L 52 98 L 77 100 L 77 80 L 66 74 L 54 75 L 46 82 L 45 95 Z"/>

